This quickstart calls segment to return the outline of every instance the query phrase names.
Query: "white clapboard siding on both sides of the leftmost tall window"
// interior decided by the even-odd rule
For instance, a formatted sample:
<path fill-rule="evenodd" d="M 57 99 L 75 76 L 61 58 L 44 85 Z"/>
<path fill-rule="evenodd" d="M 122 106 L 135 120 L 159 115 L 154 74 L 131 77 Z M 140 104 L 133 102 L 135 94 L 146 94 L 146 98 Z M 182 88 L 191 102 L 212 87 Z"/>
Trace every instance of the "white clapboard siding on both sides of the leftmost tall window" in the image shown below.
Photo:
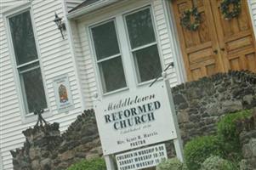
<path fill-rule="evenodd" d="M 9 150 L 23 146 L 25 138 L 21 133 L 28 127 L 32 127 L 36 122 L 22 122 L 20 111 L 20 100 L 18 86 L 14 78 L 14 65 L 12 56 L 9 54 L 8 37 L 6 26 L 3 22 L 2 11 L 12 8 L 26 1 L 0 0 L 0 151 L 1 166 L 3 170 L 12 170 L 12 156 Z M 77 4 L 79 2 L 77 1 Z M 74 122 L 77 115 L 82 112 L 82 99 L 77 88 L 76 67 L 73 63 L 71 48 L 66 32 L 65 40 L 62 39 L 60 31 L 55 26 L 54 12 L 63 17 L 62 1 L 58 0 L 36 0 L 31 1 L 32 20 L 35 26 L 36 39 L 38 42 L 38 54 L 41 60 L 41 69 L 45 82 L 48 108 L 52 116 L 47 117 L 48 122 L 59 122 L 60 131 Z M 71 94 L 74 102 L 74 109 L 69 113 L 57 112 L 55 102 L 53 78 L 67 74 L 70 80 Z M 0 166 L 0 169 L 1 169 Z"/>

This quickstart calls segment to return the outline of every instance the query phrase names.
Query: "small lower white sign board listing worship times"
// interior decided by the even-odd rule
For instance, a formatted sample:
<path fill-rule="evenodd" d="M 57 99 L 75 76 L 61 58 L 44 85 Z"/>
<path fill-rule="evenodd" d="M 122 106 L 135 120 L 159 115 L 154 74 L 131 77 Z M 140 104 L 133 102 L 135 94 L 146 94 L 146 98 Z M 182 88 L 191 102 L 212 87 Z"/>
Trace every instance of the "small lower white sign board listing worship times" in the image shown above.
<path fill-rule="evenodd" d="M 119 170 L 134 170 L 154 167 L 167 158 L 168 156 L 164 144 L 129 151 L 116 156 L 117 167 Z"/>

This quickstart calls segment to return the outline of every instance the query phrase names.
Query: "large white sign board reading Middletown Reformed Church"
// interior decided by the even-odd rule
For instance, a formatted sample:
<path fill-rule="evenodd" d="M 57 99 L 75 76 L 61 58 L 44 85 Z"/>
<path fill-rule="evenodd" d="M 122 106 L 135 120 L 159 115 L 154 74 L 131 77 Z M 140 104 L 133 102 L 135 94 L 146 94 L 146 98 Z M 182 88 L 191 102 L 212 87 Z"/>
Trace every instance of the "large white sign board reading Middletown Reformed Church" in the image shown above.
<path fill-rule="evenodd" d="M 95 101 L 104 155 L 176 139 L 165 82 Z"/>

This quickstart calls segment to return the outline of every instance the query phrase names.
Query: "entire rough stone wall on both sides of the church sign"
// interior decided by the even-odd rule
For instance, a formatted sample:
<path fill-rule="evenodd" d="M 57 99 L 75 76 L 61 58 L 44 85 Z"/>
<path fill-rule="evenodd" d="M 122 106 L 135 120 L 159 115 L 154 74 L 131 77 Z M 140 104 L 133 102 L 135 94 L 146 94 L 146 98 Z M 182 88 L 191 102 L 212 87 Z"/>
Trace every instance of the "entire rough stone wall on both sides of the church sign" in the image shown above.
<path fill-rule="evenodd" d="M 216 132 L 220 116 L 256 106 L 256 75 L 231 71 L 172 89 L 182 139 Z M 11 151 L 14 170 L 64 170 L 84 158 L 102 156 L 94 111 L 77 116 L 60 134 L 59 124 L 36 126 L 23 132 L 22 149 Z M 250 143 L 251 144 L 251 143 Z M 254 144 L 254 143 L 253 143 Z M 173 146 L 168 143 L 168 155 Z"/>

